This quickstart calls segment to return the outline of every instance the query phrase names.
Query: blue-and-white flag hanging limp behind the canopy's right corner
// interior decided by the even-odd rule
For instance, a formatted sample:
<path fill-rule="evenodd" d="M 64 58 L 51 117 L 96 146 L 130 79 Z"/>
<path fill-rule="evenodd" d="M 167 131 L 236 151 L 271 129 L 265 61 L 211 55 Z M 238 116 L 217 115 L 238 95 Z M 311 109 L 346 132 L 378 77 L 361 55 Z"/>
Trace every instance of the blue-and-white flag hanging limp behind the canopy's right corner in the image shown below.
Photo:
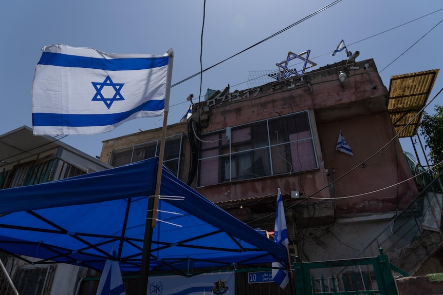
<path fill-rule="evenodd" d="M 277 196 L 277 209 L 275 213 L 274 242 L 285 247 L 287 247 L 289 243 L 288 232 L 286 230 L 285 210 L 280 188 Z M 285 266 L 279 262 L 273 262 L 272 267 L 285 268 Z M 286 269 L 272 268 L 272 280 L 283 289 L 289 283 L 288 271 Z"/>

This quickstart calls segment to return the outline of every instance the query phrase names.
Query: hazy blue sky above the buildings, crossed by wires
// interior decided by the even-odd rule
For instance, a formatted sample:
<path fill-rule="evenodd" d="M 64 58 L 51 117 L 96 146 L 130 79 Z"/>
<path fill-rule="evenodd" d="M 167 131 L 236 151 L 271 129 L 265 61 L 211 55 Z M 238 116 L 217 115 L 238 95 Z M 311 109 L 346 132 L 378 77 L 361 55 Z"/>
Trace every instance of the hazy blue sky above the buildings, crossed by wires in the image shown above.
<path fill-rule="evenodd" d="M 202 67 L 217 64 L 330 3 L 333 0 L 207 1 Z M 231 90 L 246 89 L 250 71 L 275 70 L 275 64 L 285 60 L 289 51 L 311 50 L 311 60 L 318 64 L 312 69 L 333 64 L 346 58 L 345 53 L 330 55 L 342 39 L 348 50 L 360 51 L 357 61 L 374 59 L 384 85 L 389 88 L 391 75 L 441 68 L 443 24 L 437 25 L 443 19 L 440 9 L 443 9 L 440 0 L 342 0 L 204 72 L 201 95 L 208 88 L 222 90 L 228 84 Z M 0 47 L 0 134 L 23 125 L 32 126 L 31 85 L 42 47 L 61 43 L 109 53 L 150 54 L 163 54 L 173 48 L 172 84 L 175 84 L 200 70 L 203 12 L 203 0 L 3 2 L 0 5 L 3 44 Z M 422 17 L 427 14 L 430 15 Z M 422 18 L 417 19 L 419 17 Z M 397 26 L 400 27 L 390 30 Z M 443 73 L 440 73 L 430 99 L 442 87 Z M 199 75 L 171 89 L 168 124 L 179 122 L 189 106 L 186 97 L 192 93 L 196 102 L 199 92 Z M 427 108 L 429 113 L 435 104 L 443 105 L 442 94 Z M 100 155 L 104 140 L 161 125 L 160 117 L 141 118 L 111 132 L 67 136 L 62 141 L 96 156 Z M 346 140 L 352 142 L 352 139 Z M 413 152 L 409 139 L 401 143 L 403 149 Z"/>

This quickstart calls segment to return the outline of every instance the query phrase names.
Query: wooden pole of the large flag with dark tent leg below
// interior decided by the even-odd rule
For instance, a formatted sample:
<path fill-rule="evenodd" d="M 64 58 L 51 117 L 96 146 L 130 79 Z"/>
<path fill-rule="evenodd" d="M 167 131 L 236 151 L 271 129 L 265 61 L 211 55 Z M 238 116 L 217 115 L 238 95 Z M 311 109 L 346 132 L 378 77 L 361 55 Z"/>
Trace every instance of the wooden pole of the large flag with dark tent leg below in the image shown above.
<path fill-rule="evenodd" d="M 163 129 L 161 133 L 160 153 L 158 158 L 155 192 L 154 195 L 149 196 L 149 201 L 147 202 L 146 223 L 145 223 L 144 239 L 143 239 L 143 251 L 142 251 L 141 266 L 140 266 L 140 287 L 138 292 L 138 294 L 140 295 L 146 295 L 148 290 L 147 282 L 149 280 L 149 265 L 151 261 L 152 233 L 154 231 L 154 227 L 156 226 L 158 198 L 160 195 L 160 186 L 161 186 L 161 172 L 162 172 L 163 158 L 164 158 L 164 145 L 166 143 L 166 129 L 168 126 L 169 96 L 171 93 L 171 78 L 172 78 L 172 64 L 174 60 L 174 51 L 171 48 L 170 50 L 168 50 L 167 53 L 169 55 L 169 61 L 168 61 L 168 77 L 166 83 L 166 93 L 164 99 Z"/>

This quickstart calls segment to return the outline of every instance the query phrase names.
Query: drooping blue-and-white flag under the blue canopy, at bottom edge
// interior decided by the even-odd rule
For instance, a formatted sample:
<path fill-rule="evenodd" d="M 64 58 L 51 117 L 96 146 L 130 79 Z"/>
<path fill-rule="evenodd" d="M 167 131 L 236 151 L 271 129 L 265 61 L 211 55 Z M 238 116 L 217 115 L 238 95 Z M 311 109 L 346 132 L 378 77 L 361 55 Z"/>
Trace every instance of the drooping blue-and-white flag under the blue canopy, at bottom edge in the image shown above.
<path fill-rule="evenodd" d="M 112 247 L 111 253 L 113 257 L 117 256 L 114 246 Z M 125 295 L 123 279 L 121 277 L 120 265 L 118 264 L 118 261 L 106 260 L 96 294 Z"/>

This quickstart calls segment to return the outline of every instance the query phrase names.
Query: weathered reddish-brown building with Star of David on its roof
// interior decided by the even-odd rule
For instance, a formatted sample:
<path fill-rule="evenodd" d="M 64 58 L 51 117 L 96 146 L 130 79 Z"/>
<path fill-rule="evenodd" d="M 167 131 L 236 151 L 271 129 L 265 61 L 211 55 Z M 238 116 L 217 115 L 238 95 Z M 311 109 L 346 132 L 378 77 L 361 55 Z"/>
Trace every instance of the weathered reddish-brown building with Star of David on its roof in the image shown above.
<path fill-rule="evenodd" d="M 429 72 L 431 82 L 413 80 Z M 427 87 L 421 96 L 394 80 L 388 90 L 373 60 L 342 61 L 245 90 L 208 89 L 190 120 L 168 126 L 164 164 L 238 219 L 268 231 L 280 188 L 290 253 L 303 261 L 375 256 L 374 241 L 419 196 L 396 116 L 406 111 L 407 119 L 426 103 L 437 73 L 401 76 Z M 398 89 L 403 94 L 393 97 Z M 413 123 L 403 136 L 415 135 Z M 158 128 L 104 141 L 100 159 L 120 166 L 150 158 L 160 134 Z M 352 154 L 336 150 L 339 134 Z"/>

